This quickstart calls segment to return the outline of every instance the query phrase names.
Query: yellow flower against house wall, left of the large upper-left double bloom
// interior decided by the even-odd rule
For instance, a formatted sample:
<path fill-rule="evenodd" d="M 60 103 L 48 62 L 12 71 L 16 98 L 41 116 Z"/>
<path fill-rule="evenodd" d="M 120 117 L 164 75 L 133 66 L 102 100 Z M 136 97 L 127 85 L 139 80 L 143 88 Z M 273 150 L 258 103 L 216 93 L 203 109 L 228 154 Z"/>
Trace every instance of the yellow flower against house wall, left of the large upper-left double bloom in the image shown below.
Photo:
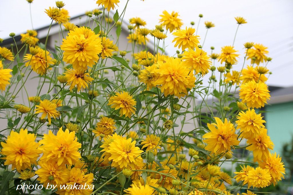
<path fill-rule="evenodd" d="M 50 52 L 41 48 L 38 48 L 38 53 L 35 55 L 25 54 L 23 60 L 27 61 L 25 66 L 30 65 L 31 69 L 40 75 L 45 74 L 49 66 L 53 64 Z"/>

